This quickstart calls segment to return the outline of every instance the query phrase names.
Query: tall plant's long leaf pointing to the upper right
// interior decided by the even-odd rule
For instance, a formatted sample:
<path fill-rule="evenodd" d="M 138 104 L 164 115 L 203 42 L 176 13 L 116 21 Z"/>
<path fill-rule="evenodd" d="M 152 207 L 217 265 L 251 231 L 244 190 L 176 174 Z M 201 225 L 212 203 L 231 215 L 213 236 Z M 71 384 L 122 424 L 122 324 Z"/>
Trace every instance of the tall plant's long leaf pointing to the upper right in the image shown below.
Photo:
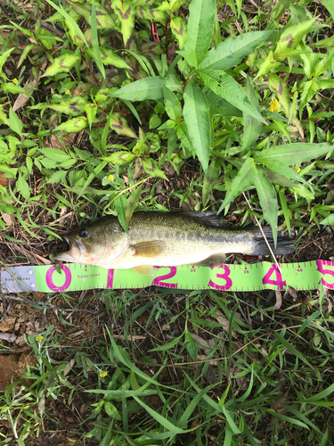
<path fill-rule="evenodd" d="M 204 61 L 200 62 L 200 70 L 210 68 L 213 70 L 228 70 L 238 65 L 242 59 L 254 53 L 257 46 L 269 40 L 273 31 L 256 31 L 230 37 L 219 45 L 214 46 Z"/>

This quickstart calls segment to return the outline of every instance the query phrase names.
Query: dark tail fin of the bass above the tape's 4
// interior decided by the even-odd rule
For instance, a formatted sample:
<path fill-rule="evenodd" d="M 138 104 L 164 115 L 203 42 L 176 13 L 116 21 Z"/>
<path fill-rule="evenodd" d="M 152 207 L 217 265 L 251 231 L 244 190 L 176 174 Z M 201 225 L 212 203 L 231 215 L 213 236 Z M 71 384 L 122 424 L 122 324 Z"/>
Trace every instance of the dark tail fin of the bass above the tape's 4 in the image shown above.
<path fill-rule="evenodd" d="M 265 233 L 265 238 L 267 239 L 270 247 L 275 255 L 279 254 L 289 254 L 290 252 L 295 252 L 294 241 L 289 237 L 289 235 L 277 235 L 276 248 L 273 244 L 273 233 L 272 229 L 268 226 L 262 228 Z M 252 254 L 253 255 L 270 255 L 268 245 L 265 243 L 265 238 L 258 227 L 254 229 L 254 243 Z"/>

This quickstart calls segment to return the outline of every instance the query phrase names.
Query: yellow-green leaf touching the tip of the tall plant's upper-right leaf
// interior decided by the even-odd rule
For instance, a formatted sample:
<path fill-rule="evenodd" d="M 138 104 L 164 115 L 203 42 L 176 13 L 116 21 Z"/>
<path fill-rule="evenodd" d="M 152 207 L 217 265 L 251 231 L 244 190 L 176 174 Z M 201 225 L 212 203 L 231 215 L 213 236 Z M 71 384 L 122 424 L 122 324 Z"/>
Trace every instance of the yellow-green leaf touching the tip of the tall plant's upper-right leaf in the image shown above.
<path fill-rule="evenodd" d="M 297 47 L 301 39 L 311 29 L 315 20 L 316 17 L 309 21 L 304 21 L 303 23 L 299 23 L 298 25 L 285 29 L 281 34 L 278 44 L 276 45 L 273 58 L 285 59 L 286 57 L 289 57 L 291 50 L 294 50 Z"/>

